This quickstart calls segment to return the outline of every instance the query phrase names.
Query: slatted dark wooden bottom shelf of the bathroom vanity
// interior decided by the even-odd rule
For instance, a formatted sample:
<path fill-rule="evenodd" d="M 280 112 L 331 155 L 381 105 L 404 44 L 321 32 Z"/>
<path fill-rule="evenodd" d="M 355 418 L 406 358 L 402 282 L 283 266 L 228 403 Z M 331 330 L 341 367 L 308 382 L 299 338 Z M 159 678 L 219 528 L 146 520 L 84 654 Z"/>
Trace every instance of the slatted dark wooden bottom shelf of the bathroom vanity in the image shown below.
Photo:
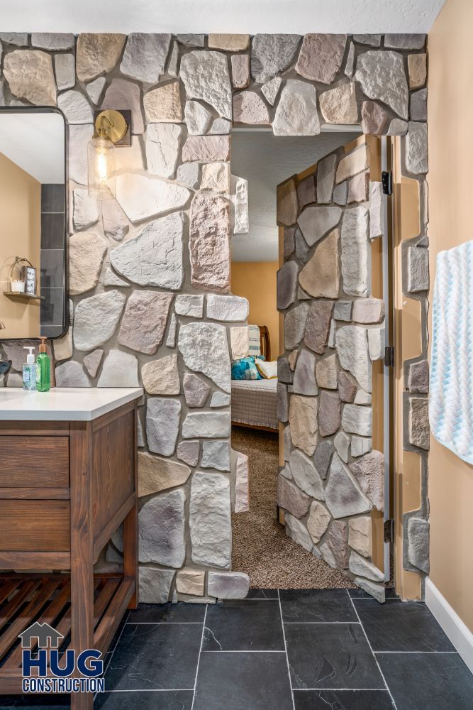
<path fill-rule="evenodd" d="M 94 647 L 103 654 L 135 594 L 135 580 L 94 575 Z M 25 606 L 26 605 L 26 606 Z M 71 583 L 67 574 L 0 575 L 0 683 L 2 693 L 21 692 L 21 645 L 18 633 L 35 621 L 53 626 L 71 644 Z M 34 647 L 33 647 L 34 648 Z"/>

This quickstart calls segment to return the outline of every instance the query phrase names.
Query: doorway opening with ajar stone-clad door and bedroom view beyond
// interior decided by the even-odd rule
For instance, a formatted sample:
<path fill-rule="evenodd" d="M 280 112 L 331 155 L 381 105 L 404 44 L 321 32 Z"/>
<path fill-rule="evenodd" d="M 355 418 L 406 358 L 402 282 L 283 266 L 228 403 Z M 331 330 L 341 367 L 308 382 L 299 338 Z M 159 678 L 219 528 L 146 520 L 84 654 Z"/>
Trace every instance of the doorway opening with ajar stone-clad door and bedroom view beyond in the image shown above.
<path fill-rule="evenodd" d="M 356 577 L 384 598 L 383 240 L 368 228 L 381 148 L 328 128 L 232 135 L 231 173 L 247 184 L 231 290 L 249 303 L 247 327 L 230 331 L 232 569 L 259 589 L 352 587 Z"/>

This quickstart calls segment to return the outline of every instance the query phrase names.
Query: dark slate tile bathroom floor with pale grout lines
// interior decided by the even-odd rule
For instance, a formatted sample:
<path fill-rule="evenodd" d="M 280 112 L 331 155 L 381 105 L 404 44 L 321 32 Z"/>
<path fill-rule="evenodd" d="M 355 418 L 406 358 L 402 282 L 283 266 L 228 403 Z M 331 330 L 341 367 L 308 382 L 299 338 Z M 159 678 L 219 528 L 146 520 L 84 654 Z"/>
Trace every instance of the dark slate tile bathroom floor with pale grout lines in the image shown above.
<path fill-rule="evenodd" d="M 472 710 L 473 675 L 425 604 L 357 589 L 251 590 L 216 605 L 140 604 L 94 708 Z M 0 696 L 0 710 L 64 698 Z"/>

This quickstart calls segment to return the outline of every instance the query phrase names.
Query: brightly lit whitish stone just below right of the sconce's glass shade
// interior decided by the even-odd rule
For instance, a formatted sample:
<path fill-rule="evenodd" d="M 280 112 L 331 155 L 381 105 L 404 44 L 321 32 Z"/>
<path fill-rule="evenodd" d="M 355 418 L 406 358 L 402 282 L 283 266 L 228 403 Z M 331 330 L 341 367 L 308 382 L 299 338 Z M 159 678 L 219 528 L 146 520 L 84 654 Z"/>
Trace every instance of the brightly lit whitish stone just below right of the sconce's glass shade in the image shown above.
<path fill-rule="evenodd" d="M 116 199 L 131 222 L 184 207 L 190 195 L 186 187 L 146 175 L 123 173 L 116 178 Z"/>

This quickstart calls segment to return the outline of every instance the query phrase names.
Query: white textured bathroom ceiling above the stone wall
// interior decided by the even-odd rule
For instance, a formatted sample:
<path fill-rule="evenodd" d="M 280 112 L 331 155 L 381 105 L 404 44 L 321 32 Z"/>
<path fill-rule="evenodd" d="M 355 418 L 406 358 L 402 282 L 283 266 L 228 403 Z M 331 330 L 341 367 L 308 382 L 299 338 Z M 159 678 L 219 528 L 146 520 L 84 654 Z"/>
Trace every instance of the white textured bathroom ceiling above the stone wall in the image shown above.
<path fill-rule="evenodd" d="M 0 0 L 4 32 L 428 32 L 445 0 Z"/>

